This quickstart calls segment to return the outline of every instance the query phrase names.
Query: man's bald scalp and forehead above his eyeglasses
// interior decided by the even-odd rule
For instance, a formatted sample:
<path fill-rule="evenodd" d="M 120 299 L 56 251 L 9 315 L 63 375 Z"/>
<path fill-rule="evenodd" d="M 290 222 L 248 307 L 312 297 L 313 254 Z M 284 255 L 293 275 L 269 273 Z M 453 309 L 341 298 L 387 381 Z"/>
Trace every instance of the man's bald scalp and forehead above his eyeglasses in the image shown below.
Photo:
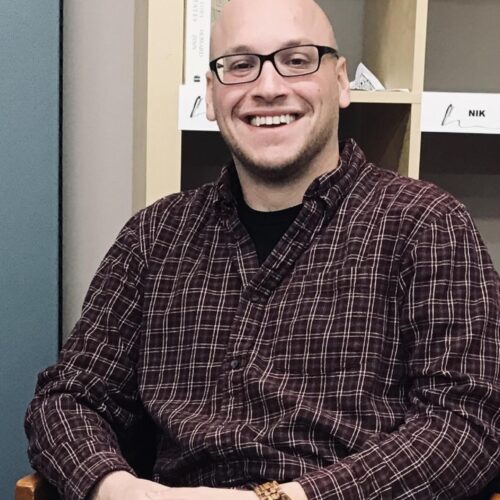
<path fill-rule="evenodd" d="M 231 0 L 213 26 L 210 58 L 267 53 L 290 42 L 336 47 L 332 25 L 314 0 Z"/>

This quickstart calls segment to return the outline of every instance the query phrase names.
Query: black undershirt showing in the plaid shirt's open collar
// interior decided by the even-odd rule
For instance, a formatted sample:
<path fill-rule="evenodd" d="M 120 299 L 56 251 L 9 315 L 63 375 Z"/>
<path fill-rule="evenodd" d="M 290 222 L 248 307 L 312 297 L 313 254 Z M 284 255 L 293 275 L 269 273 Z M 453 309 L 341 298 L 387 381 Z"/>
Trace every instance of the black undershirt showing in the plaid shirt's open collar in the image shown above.
<path fill-rule="evenodd" d="M 296 205 L 274 212 L 260 212 L 250 208 L 243 196 L 239 197 L 238 215 L 254 242 L 259 264 L 273 251 L 301 208 L 302 205 Z"/>

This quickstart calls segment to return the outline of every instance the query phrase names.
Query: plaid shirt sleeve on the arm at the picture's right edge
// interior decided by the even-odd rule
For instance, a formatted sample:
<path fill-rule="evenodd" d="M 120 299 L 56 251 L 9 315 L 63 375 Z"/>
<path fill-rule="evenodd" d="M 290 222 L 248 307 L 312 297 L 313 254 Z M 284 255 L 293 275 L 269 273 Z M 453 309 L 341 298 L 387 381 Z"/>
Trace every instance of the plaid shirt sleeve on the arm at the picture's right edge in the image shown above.
<path fill-rule="evenodd" d="M 406 255 L 404 422 L 299 478 L 309 500 L 463 498 L 500 470 L 498 274 L 461 209 L 426 226 Z"/>

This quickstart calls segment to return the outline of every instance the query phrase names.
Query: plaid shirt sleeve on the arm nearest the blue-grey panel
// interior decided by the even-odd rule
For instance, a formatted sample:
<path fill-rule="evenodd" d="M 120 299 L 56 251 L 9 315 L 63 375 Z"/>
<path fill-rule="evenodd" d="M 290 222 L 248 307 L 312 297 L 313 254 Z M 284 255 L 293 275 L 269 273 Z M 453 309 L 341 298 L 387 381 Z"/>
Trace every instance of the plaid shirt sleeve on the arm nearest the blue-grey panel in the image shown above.
<path fill-rule="evenodd" d="M 64 498 L 85 498 L 114 470 L 133 473 L 119 434 L 142 411 L 135 376 L 145 268 L 138 219 L 124 227 L 101 263 L 82 316 L 58 363 L 39 375 L 27 411 L 30 461 Z"/>

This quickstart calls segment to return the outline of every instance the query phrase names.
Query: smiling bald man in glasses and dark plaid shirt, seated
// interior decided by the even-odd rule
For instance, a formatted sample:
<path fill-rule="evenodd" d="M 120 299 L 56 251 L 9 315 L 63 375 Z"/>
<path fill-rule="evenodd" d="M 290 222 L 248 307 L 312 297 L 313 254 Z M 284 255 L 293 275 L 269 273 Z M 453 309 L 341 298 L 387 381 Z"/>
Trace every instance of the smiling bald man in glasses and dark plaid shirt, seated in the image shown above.
<path fill-rule="evenodd" d="M 339 147 L 336 47 L 312 0 L 223 11 L 233 164 L 129 221 L 28 412 L 67 498 L 461 498 L 499 470 L 498 275 L 460 203 Z M 154 481 L 119 444 L 145 416 Z"/>

